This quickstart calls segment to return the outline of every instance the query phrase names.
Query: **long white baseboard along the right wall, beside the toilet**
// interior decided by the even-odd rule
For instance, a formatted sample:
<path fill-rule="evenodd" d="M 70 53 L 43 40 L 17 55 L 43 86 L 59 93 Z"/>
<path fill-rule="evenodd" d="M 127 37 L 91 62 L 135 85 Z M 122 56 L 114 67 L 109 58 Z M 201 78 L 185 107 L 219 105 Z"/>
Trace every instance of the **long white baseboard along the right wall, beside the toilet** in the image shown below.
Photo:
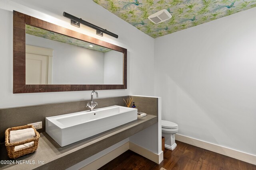
<path fill-rule="evenodd" d="M 252 155 L 252 154 L 248 154 L 248 153 L 244 153 L 244 152 L 240 152 L 238 150 L 234 150 L 234 149 L 229 149 L 226 147 L 222 147 L 219 145 L 215 145 L 212 143 L 207 143 L 204 141 L 200 141 L 198 139 L 194 139 L 191 137 L 186 137 L 183 135 L 179 135 L 179 134 L 175 134 L 175 140 L 177 141 L 181 141 L 184 143 L 188 143 L 190 145 L 194 145 L 196 147 L 200 147 L 203 149 L 207 149 L 210 150 L 212 152 L 216 152 L 219 154 L 223 154 L 232 158 L 236 158 L 238 160 L 242 160 L 244 162 L 248 162 L 250 164 L 254 164 L 256 165 L 256 156 Z"/>

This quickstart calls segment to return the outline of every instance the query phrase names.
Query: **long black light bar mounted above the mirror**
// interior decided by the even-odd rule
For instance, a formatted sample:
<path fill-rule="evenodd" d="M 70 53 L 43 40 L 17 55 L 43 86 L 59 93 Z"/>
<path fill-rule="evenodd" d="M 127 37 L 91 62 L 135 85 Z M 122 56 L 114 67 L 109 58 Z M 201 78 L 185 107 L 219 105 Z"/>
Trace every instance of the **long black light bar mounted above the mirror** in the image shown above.
<path fill-rule="evenodd" d="M 92 24 L 92 23 L 89 23 L 89 22 L 87 22 L 87 21 L 84 21 L 84 20 L 82 20 L 82 19 L 80 19 L 80 18 L 77 18 L 77 17 L 75 17 L 75 16 L 72 16 L 71 14 L 68 14 L 68 13 L 66 13 L 66 12 L 63 12 L 63 16 L 66 17 L 66 18 L 69 18 L 70 20 L 76 21 L 76 22 L 78 22 L 78 23 L 82 23 L 83 25 L 86 25 L 86 26 L 88 26 L 88 27 L 91 27 L 91 28 L 93 28 L 93 29 L 96 29 L 96 30 L 98 30 L 98 31 L 100 31 L 100 32 L 102 32 L 102 33 L 106 33 L 106 34 L 108 34 L 108 35 L 110 35 L 110 36 L 112 36 L 112 37 L 118 38 L 118 35 L 116 35 L 116 34 L 110 32 L 110 31 L 108 31 L 108 30 L 106 30 L 106 29 L 103 29 L 103 28 L 101 28 L 101 27 L 98 27 L 98 26 L 96 26 L 96 25 L 94 25 L 94 24 Z"/>

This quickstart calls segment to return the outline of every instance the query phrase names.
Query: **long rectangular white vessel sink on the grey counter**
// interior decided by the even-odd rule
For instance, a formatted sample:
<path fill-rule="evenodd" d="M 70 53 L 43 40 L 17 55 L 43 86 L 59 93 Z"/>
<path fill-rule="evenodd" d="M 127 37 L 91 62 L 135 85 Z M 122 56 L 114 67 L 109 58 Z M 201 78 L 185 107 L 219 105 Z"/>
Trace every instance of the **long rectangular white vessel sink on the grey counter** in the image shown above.
<path fill-rule="evenodd" d="M 110 106 L 46 117 L 46 133 L 61 147 L 137 119 L 137 109 Z"/>

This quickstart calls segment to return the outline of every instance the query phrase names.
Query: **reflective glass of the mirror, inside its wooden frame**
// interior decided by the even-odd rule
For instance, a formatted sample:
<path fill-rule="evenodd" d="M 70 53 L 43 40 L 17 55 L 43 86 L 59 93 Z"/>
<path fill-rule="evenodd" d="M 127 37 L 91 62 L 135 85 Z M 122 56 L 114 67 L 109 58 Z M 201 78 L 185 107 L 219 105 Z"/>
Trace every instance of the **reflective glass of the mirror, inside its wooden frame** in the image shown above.
<path fill-rule="evenodd" d="M 26 84 L 123 84 L 123 53 L 26 24 Z"/>

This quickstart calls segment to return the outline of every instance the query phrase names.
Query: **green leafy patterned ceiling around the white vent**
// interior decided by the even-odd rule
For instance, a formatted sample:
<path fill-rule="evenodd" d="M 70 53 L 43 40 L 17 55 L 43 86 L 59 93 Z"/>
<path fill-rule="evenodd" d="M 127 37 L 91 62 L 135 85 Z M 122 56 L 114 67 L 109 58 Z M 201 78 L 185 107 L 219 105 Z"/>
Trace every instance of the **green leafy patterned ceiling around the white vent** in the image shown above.
<path fill-rule="evenodd" d="M 93 0 L 124 21 L 157 38 L 256 7 L 256 0 Z M 170 20 L 154 24 L 148 16 L 162 9 Z"/>

